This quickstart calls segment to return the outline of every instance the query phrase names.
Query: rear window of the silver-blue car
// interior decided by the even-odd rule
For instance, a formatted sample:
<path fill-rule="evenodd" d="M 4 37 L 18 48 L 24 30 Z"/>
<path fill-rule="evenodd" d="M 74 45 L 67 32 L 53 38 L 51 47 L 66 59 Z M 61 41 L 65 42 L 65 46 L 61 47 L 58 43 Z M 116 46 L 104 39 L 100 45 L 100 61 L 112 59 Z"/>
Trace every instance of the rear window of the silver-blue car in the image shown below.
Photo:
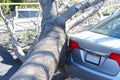
<path fill-rule="evenodd" d="M 95 27 L 91 31 L 120 38 L 120 18 L 114 19 L 103 26 Z"/>

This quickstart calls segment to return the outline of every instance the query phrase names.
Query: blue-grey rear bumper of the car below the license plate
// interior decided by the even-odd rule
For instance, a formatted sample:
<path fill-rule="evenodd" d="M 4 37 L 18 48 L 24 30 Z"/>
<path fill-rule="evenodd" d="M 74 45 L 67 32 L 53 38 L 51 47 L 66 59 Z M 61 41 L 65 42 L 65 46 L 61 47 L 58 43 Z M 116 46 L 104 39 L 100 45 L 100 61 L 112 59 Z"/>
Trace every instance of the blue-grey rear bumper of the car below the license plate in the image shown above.
<path fill-rule="evenodd" d="M 120 80 L 120 72 L 115 76 L 105 74 L 77 64 L 72 59 L 70 60 L 70 64 L 67 65 L 66 72 L 69 75 L 80 78 L 82 80 Z"/>

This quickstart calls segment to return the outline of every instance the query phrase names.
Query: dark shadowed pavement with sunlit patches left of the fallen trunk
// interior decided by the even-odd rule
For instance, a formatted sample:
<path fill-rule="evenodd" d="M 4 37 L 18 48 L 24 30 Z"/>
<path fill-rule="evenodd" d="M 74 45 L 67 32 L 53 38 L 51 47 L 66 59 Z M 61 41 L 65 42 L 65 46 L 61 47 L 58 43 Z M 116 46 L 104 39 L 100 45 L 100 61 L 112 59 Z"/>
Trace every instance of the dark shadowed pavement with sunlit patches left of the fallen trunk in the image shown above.
<path fill-rule="evenodd" d="M 9 80 L 21 64 L 19 59 L 14 59 L 10 52 L 0 46 L 0 80 Z"/>

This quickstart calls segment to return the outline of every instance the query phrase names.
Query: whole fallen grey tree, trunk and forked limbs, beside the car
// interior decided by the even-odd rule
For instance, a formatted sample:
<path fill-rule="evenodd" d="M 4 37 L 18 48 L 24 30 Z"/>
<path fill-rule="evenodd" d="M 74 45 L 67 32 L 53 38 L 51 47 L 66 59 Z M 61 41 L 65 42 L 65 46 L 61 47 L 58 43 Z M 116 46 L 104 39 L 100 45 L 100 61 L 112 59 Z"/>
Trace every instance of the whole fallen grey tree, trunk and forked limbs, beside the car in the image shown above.
<path fill-rule="evenodd" d="M 39 0 L 42 15 L 42 32 L 35 44 L 26 55 L 26 60 L 20 69 L 10 80 L 51 80 L 58 67 L 64 66 L 61 61 L 65 60 L 67 37 L 65 22 L 77 11 L 91 7 L 70 21 L 71 27 L 78 25 L 81 21 L 97 12 L 104 0 L 92 0 L 79 2 L 71 6 L 62 14 L 58 13 L 60 6 L 55 6 L 61 0 Z M 54 6 L 54 7 L 53 7 Z M 62 59 L 61 59 L 62 58 Z"/>

